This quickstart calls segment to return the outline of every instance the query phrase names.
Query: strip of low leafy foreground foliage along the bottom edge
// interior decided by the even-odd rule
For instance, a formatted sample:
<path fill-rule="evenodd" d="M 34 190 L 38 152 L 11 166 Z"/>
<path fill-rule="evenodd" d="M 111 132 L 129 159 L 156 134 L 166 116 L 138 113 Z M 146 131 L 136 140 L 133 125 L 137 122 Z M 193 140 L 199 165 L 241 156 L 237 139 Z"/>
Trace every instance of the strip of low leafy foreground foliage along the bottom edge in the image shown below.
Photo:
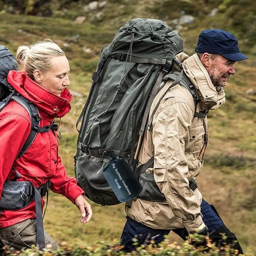
<path fill-rule="evenodd" d="M 198 234 L 190 235 L 191 241 L 194 243 L 201 242 L 205 239 L 203 236 Z M 225 241 L 227 236 L 223 234 L 222 239 Z M 123 246 L 119 242 L 113 242 L 111 244 L 106 244 L 104 242 L 97 242 L 92 246 L 68 246 L 66 242 L 62 242 L 61 247 L 56 251 L 51 251 L 50 247 L 44 249 L 43 252 L 38 251 L 36 247 L 33 246 L 32 249 L 26 249 L 22 251 L 17 251 L 16 253 L 7 252 L 7 256 L 122 256 L 122 255 L 141 255 L 141 256 L 201 256 L 202 252 L 207 250 L 208 256 L 218 256 L 218 255 L 238 255 L 238 251 L 227 246 L 225 242 L 221 249 L 217 248 L 215 244 L 212 244 L 210 239 L 206 237 L 206 245 L 198 249 L 193 248 L 188 241 L 183 243 L 181 246 L 177 242 L 168 243 L 161 242 L 158 245 L 154 241 L 151 241 L 148 246 L 142 244 L 138 246 L 138 240 L 133 239 L 133 245 L 136 246 L 136 250 L 131 253 L 123 252 L 121 249 Z M 247 253 L 248 256 L 253 256 L 250 251 Z"/>

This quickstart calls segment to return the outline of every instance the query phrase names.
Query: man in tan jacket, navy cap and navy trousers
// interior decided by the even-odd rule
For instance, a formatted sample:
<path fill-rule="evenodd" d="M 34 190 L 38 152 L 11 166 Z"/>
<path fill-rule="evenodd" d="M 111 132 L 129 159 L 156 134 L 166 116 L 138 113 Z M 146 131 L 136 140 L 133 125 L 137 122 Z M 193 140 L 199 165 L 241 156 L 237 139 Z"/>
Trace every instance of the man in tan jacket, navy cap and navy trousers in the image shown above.
<path fill-rule="evenodd" d="M 208 144 L 206 113 L 225 102 L 223 87 L 235 74 L 234 63 L 247 57 L 240 53 L 236 37 L 223 30 L 203 30 L 196 54 L 189 57 L 182 52 L 176 57 L 200 102 L 195 109 L 191 93 L 181 84 L 167 90 L 173 80 L 155 97 L 149 116 L 159 100 L 160 104 L 138 158 L 139 165 L 152 156 L 154 163 L 140 176 L 143 191 L 126 204 L 127 221 L 121 236 L 125 251 L 134 249 L 135 236 L 139 244 L 152 239 L 159 243 L 170 231 L 184 240 L 189 233 L 209 235 L 219 247 L 220 233 L 226 233 L 227 243 L 237 240 L 215 208 L 202 199 L 194 178 L 201 172 Z M 238 242 L 234 248 L 243 253 Z"/>

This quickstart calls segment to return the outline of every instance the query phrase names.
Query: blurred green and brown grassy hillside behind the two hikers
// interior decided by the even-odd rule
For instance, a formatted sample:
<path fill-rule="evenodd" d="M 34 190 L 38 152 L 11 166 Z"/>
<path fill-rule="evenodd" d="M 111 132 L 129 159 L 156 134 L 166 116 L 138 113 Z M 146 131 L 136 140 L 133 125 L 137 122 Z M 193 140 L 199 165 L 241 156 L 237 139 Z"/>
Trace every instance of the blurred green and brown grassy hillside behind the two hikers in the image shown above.
<path fill-rule="evenodd" d="M 15 52 L 22 44 L 50 37 L 66 52 L 70 61 L 69 89 L 77 96 L 72 101 L 72 110 L 62 119 L 60 129 L 60 154 L 68 174 L 74 174 L 75 123 L 86 102 L 91 72 L 97 64 L 100 49 L 130 18 L 161 18 L 174 26 L 173 19 L 179 18 L 180 11 L 184 10 L 195 17 L 193 23 L 183 25 L 180 30 L 188 54 L 194 53 L 202 29 L 221 28 L 234 33 L 240 39 L 240 48 L 249 56 L 248 60 L 236 63 L 236 74 L 229 78 L 225 87 L 226 103 L 209 113 L 210 142 L 204 170 L 197 181 L 204 198 L 215 205 L 226 225 L 237 234 L 243 248 L 251 246 L 256 249 L 256 2 L 112 0 L 103 9 L 86 13 L 82 6 L 87 2 L 64 1 L 62 7 L 52 7 L 55 8 L 50 14 L 52 17 L 47 18 L 9 14 L 7 4 L 2 5 L 0 14 L 0 44 Z M 214 8 L 219 8 L 219 13 L 208 17 Z M 99 11 L 102 14 L 98 19 L 96 14 Z M 81 15 L 86 21 L 75 24 L 73 20 Z M 254 91 L 247 94 L 250 89 Z M 118 239 L 125 223 L 124 205 L 102 207 L 92 204 L 92 207 L 93 217 L 83 226 L 79 223 L 78 209 L 64 197 L 51 193 L 45 228 L 56 241 L 65 240 L 70 244 Z M 178 240 L 174 234 L 170 234 L 169 239 Z"/>

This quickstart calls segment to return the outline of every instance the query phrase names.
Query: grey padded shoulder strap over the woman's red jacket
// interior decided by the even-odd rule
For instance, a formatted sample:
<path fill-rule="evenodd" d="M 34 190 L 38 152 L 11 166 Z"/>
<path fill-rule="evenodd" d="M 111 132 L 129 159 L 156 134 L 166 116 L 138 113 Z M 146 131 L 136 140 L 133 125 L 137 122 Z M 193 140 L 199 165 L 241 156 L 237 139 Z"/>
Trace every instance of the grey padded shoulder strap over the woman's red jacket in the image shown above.
<path fill-rule="evenodd" d="M 16 159 L 17 159 L 27 151 L 29 146 L 35 140 L 36 134 L 38 132 L 39 124 L 42 119 L 39 116 L 37 107 L 29 100 L 27 100 L 24 97 L 17 95 L 17 94 L 12 96 L 12 100 L 14 100 L 18 104 L 22 105 L 27 110 L 27 112 L 30 116 L 30 119 L 31 119 L 31 131 L 28 135 L 28 138 L 27 138 L 25 144 L 23 145 L 22 149 L 20 150 L 19 154 L 17 155 L 17 157 L 16 157 Z"/>

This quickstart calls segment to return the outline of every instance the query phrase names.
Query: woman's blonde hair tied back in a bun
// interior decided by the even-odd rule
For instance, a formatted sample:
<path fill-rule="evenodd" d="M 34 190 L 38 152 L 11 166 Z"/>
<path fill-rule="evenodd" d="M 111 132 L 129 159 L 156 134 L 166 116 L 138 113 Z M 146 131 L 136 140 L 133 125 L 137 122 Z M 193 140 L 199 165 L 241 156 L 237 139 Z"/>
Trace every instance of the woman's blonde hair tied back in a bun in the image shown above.
<path fill-rule="evenodd" d="M 33 42 L 30 46 L 20 46 L 16 53 L 16 60 L 23 65 L 24 71 L 30 78 L 34 78 L 34 71 L 47 72 L 52 65 L 52 57 L 65 56 L 61 48 L 51 39 L 45 38 Z"/>

